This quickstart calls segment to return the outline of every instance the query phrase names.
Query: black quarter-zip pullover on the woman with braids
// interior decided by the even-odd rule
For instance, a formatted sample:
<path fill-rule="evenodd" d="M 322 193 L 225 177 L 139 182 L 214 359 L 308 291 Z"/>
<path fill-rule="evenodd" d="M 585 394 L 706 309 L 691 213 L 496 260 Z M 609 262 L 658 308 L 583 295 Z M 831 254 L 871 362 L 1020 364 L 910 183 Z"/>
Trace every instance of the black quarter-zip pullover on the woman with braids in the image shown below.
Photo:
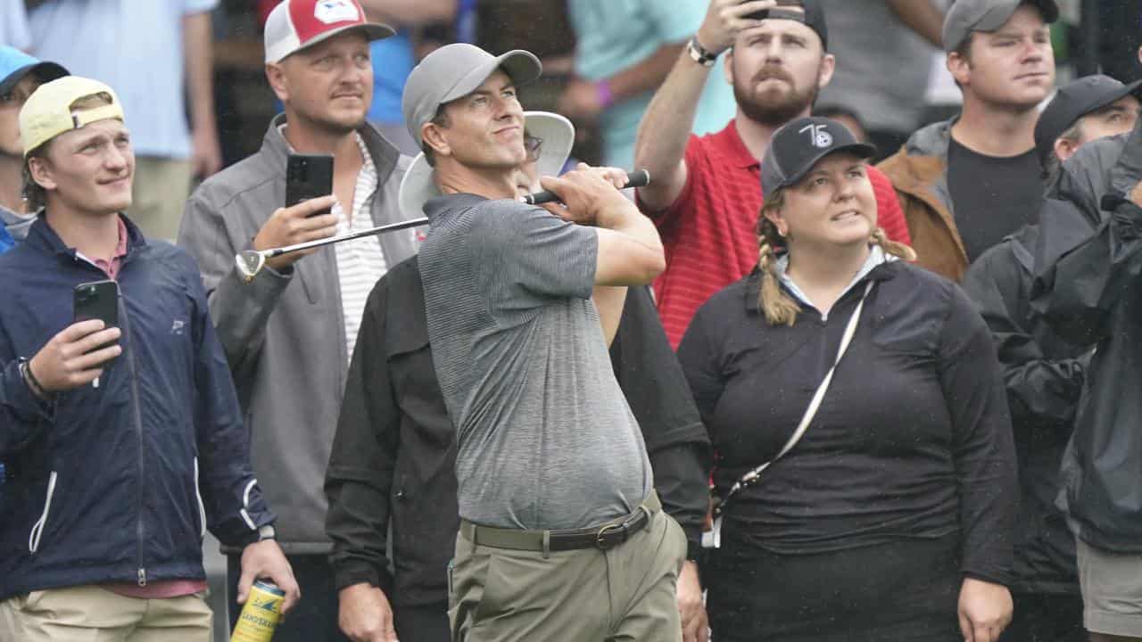
<path fill-rule="evenodd" d="M 878 265 L 822 315 L 793 326 L 758 308 L 758 272 L 699 308 L 678 359 L 717 451 L 723 491 L 771 460 L 860 326 L 803 439 L 724 516 L 742 544 L 818 554 L 958 535 L 964 573 L 1011 580 L 1018 485 L 995 347 L 951 281 Z M 729 529 L 727 529 L 729 530 Z"/>

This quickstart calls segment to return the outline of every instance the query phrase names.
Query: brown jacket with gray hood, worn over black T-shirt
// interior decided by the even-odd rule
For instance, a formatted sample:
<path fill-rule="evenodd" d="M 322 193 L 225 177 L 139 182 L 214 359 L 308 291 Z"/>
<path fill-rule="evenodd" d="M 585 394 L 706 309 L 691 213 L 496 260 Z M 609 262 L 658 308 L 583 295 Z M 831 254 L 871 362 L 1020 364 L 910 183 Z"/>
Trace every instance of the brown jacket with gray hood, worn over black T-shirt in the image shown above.
<path fill-rule="evenodd" d="M 967 251 L 956 228 L 948 188 L 948 146 L 955 119 L 917 130 L 877 167 L 892 179 L 904 210 L 917 265 L 959 282 Z"/>

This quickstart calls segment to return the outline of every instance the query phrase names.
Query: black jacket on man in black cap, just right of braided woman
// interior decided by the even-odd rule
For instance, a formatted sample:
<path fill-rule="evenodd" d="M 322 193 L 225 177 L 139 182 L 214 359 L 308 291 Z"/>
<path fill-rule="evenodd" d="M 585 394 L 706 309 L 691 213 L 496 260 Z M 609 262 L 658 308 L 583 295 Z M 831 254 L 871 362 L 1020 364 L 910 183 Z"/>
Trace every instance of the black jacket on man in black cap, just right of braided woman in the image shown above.
<path fill-rule="evenodd" d="M 1031 310 L 1040 226 L 1044 242 L 1092 231 L 1061 206 L 1053 201 L 1040 225 L 1023 227 L 981 255 L 963 282 L 991 330 L 1007 388 L 1022 491 L 1013 587 L 1022 593 L 1079 591 L 1075 538 L 1055 498 L 1091 351 L 1064 342 Z"/>

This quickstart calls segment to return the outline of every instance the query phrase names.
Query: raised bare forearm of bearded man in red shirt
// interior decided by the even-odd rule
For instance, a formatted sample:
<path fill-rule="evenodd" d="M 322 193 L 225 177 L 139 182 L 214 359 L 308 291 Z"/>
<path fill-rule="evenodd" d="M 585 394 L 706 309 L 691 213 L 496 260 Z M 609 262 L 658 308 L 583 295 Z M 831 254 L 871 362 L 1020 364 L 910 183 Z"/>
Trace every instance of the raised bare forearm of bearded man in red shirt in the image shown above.
<path fill-rule="evenodd" d="M 710 74 L 710 67 L 695 63 L 686 51 L 675 61 L 643 115 L 635 143 L 635 167 L 649 169 L 654 177 L 638 190 L 642 202 L 652 209 L 669 207 L 686 183 L 686 142 Z"/>

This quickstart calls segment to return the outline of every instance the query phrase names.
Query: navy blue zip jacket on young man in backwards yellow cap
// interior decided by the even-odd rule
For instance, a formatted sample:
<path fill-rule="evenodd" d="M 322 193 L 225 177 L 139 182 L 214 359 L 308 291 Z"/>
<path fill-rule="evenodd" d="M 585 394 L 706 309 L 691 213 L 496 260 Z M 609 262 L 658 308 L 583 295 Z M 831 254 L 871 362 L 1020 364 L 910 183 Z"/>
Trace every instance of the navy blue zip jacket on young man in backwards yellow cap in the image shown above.
<path fill-rule="evenodd" d="M 207 528 L 241 546 L 274 521 L 194 260 L 123 220 L 123 353 L 98 387 L 51 403 L 27 388 L 19 359 L 72 323 L 75 286 L 106 275 L 43 216 L 0 256 L 0 599 L 202 579 Z"/>

